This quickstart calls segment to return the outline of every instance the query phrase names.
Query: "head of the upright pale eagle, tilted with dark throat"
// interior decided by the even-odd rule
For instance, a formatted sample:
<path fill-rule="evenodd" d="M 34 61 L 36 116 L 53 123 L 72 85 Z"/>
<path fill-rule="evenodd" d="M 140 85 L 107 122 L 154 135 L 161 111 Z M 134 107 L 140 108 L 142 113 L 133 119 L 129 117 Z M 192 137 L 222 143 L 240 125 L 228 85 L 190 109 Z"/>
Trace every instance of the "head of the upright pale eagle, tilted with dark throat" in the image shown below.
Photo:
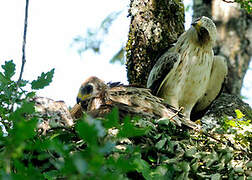
<path fill-rule="evenodd" d="M 214 45 L 217 37 L 217 29 L 210 18 L 206 16 L 199 17 L 192 22 L 192 26 L 197 32 L 197 39 L 200 45 Z"/>

